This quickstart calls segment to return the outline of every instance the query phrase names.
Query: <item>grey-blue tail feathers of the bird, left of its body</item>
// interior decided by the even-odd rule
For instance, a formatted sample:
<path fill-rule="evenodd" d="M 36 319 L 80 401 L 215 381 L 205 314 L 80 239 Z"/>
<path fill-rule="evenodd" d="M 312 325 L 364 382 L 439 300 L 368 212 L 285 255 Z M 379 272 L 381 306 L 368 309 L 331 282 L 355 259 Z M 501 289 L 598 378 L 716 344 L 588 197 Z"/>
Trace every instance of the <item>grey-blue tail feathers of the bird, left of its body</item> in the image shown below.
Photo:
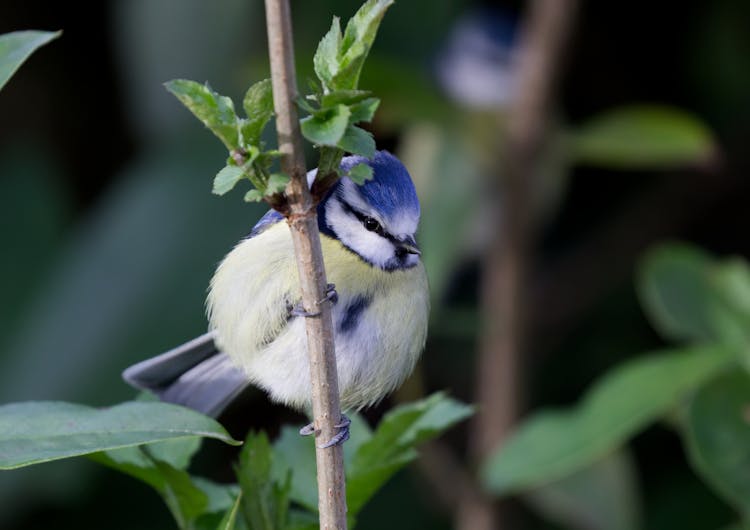
<path fill-rule="evenodd" d="M 214 342 L 215 332 L 127 368 L 122 377 L 163 401 L 218 416 L 249 384 Z"/>

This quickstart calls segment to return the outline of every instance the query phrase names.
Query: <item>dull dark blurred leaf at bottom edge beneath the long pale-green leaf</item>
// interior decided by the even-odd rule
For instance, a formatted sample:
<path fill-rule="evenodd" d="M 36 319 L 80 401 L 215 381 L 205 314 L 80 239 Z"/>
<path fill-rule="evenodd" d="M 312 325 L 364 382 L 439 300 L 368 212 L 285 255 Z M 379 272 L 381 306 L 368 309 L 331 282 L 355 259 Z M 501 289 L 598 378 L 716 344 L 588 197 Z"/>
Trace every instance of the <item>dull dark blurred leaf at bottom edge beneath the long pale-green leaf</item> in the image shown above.
<path fill-rule="evenodd" d="M 524 495 L 541 515 L 566 528 L 643 528 L 635 464 L 624 450 Z"/>

